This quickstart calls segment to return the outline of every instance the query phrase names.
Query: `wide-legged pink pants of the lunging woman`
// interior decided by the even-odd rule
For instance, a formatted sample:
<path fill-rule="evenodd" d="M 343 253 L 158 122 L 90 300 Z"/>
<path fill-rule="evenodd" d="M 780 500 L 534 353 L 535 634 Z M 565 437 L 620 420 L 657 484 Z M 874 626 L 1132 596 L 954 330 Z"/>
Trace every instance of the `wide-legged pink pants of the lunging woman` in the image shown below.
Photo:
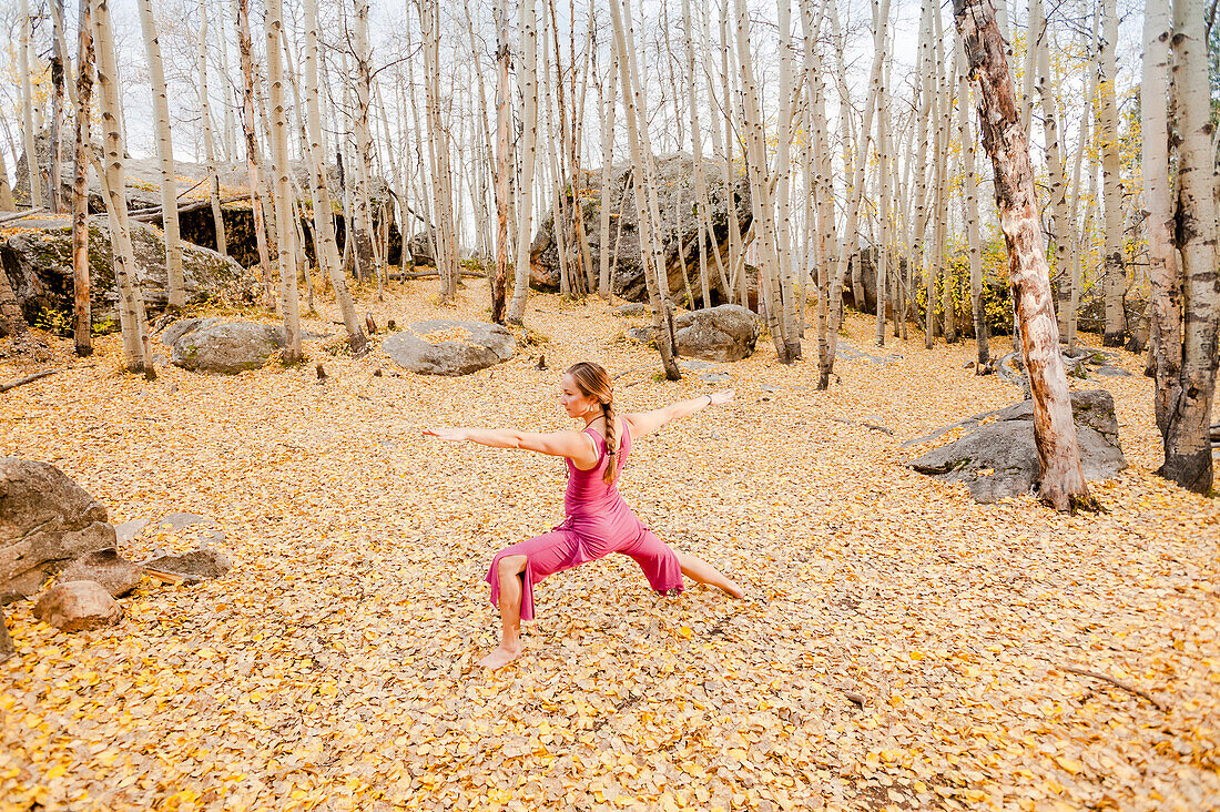
<path fill-rule="evenodd" d="M 521 573 L 521 619 L 533 620 L 533 586 L 542 579 L 586 562 L 597 560 L 610 553 L 631 556 L 644 570 L 648 582 L 658 592 L 682 591 L 682 568 L 678 557 L 658 538 L 651 530 L 638 524 L 638 534 L 627 534 L 617 541 L 606 541 L 565 526 L 565 521 L 550 532 L 505 547 L 492 559 L 487 582 L 492 585 L 492 604 L 500 604 L 500 559 L 525 556 L 526 568 Z"/>

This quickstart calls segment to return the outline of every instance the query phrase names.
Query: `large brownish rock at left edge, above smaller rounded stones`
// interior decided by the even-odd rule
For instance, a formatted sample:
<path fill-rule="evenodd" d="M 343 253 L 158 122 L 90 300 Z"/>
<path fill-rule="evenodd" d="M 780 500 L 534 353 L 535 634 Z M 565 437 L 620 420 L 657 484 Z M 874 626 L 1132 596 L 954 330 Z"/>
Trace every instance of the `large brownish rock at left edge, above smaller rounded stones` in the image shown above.
<path fill-rule="evenodd" d="M 113 546 L 106 508 L 63 471 L 0 457 L 0 603 L 34 595 L 77 558 Z"/>

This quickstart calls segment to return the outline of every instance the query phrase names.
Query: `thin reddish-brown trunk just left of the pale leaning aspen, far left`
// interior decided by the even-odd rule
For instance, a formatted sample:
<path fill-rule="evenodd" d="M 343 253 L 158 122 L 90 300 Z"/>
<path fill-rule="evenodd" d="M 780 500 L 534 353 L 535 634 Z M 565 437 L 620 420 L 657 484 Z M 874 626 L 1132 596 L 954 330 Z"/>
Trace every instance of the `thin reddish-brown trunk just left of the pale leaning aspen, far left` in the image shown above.
<path fill-rule="evenodd" d="M 72 169 L 72 315 L 76 354 L 93 354 L 93 315 L 89 302 L 89 111 L 93 109 L 93 31 L 89 0 L 81 0 L 77 26 L 76 160 Z"/>

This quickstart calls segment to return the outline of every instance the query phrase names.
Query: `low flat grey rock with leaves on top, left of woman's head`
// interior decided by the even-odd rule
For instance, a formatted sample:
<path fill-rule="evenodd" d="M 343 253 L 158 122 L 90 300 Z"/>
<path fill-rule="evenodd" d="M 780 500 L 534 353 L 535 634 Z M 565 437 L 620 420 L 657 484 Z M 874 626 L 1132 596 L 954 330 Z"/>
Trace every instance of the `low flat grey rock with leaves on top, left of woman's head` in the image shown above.
<path fill-rule="evenodd" d="M 382 348 L 390 360 L 412 372 L 467 375 L 509 360 L 517 342 L 500 325 L 433 319 L 394 333 Z"/>

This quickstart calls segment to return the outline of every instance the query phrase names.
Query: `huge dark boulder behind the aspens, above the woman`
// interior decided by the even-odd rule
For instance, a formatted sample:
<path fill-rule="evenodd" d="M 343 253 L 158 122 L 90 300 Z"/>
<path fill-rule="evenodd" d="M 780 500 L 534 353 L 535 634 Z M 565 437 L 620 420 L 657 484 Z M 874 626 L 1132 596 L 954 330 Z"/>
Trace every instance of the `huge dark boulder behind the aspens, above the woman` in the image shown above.
<path fill-rule="evenodd" d="M 656 159 L 656 186 L 659 190 L 659 209 L 661 216 L 660 241 L 665 255 L 665 270 L 670 292 L 684 300 L 687 285 L 692 294 L 700 295 L 699 285 L 699 217 L 695 212 L 694 158 L 691 155 L 666 155 Z M 716 236 L 714 250 L 721 256 L 721 264 L 727 267 L 728 231 L 731 221 L 744 233 L 749 228 L 753 215 L 750 211 L 750 193 L 745 178 L 739 178 L 732 188 L 723 183 L 722 167 L 719 160 L 703 162 L 708 181 L 708 194 L 711 204 L 711 225 Z M 589 256 L 594 267 L 601 264 L 603 249 L 617 258 L 612 271 L 614 294 L 628 302 L 642 302 L 648 297 L 644 286 L 644 267 L 640 255 L 639 215 L 636 211 L 636 199 L 632 193 L 634 173 L 631 165 L 622 164 L 610 167 L 609 195 L 605 204 L 610 206 L 609 243 L 601 245 L 601 171 L 584 172 L 581 190 L 581 214 L 584 222 L 584 234 L 589 244 Z M 569 187 L 570 189 L 571 187 Z M 730 193 L 733 195 L 733 215 L 730 216 L 726 205 Z M 620 210 L 621 204 L 621 210 Z M 571 192 L 565 201 L 572 205 Z M 621 214 L 620 214 L 621 211 Z M 576 233 L 571 223 L 564 228 L 566 245 L 576 244 Z M 617 253 L 615 247 L 617 245 Z M 684 249 L 686 265 L 682 265 Z M 708 272 L 715 288 L 714 300 L 727 300 L 720 283 L 716 260 L 709 253 Z M 544 291 L 559 289 L 559 244 L 555 236 L 555 216 L 549 214 L 538 227 L 538 233 L 529 247 L 531 285 Z M 693 303 L 687 303 L 693 304 Z M 710 303 L 704 303 L 710 304 Z"/>

